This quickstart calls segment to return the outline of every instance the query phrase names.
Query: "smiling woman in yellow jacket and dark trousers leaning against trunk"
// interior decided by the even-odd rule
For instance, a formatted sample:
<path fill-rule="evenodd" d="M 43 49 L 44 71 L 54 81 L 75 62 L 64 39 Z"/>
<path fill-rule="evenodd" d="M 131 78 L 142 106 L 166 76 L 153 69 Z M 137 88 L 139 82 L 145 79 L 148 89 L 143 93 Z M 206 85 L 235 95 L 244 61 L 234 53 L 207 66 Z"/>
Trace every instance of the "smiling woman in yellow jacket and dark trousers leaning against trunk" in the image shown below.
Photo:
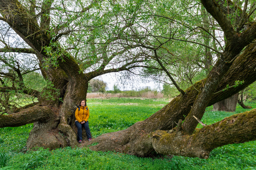
<path fill-rule="evenodd" d="M 76 121 L 75 124 L 77 126 L 77 136 L 78 136 L 78 143 L 82 142 L 82 127 L 85 128 L 86 131 L 86 135 L 88 140 L 92 140 L 91 139 L 91 132 L 89 129 L 89 122 L 88 122 L 88 118 L 89 118 L 89 109 L 86 106 L 86 102 L 85 100 L 82 100 L 79 104 L 79 108 L 77 108 L 75 116 L 76 116 Z"/>

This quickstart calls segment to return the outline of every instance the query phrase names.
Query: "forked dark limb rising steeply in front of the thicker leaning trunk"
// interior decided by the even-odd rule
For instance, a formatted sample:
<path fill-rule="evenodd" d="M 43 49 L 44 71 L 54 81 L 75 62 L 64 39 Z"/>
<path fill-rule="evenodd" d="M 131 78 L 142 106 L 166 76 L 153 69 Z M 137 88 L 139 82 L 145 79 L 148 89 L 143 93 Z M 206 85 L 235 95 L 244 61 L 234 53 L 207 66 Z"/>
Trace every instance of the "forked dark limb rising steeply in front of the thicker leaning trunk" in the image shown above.
<path fill-rule="evenodd" d="M 217 60 L 214 68 L 210 71 L 206 78 L 204 87 L 197 95 L 192 109 L 183 123 L 183 130 L 187 134 L 192 134 L 198 124 L 194 118 L 196 116 L 201 120 L 204 115 L 205 108 L 207 107 L 210 99 L 214 95 L 214 91 L 219 84 L 219 80 L 222 79 L 224 74 L 228 71 L 232 62 L 239 55 L 241 50 L 252 42 L 256 38 L 256 23 L 253 23 L 251 27 L 243 33 L 236 34 L 233 30 L 230 20 L 226 17 L 223 11 L 220 9 L 219 4 L 215 1 L 205 0 L 202 1 L 207 11 L 218 21 L 225 37 L 227 44 L 223 55 Z"/>

